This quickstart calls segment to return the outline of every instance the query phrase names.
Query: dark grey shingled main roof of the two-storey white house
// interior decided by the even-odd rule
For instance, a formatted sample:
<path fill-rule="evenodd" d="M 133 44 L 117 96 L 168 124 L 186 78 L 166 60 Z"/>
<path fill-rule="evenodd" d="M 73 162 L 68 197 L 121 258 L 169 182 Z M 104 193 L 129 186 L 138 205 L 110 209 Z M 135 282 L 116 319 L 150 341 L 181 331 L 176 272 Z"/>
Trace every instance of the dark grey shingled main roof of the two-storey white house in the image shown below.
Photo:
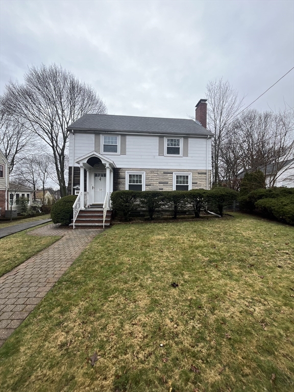
<path fill-rule="evenodd" d="M 116 116 L 111 114 L 84 114 L 67 129 L 75 131 L 213 136 L 210 131 L 197 124 L 194 120 L 182 118 Z"/>

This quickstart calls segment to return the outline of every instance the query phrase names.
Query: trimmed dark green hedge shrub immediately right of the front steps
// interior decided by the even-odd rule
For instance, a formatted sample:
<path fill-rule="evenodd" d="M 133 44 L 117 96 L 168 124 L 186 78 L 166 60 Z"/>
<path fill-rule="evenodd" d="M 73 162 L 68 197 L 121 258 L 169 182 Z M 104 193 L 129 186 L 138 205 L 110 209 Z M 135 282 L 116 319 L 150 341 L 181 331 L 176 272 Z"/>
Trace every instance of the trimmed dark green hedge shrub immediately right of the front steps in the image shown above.
<path fill-rule="evenodd" d="M 111 193 L 112 208 L 118 215 L 130 220 L 130 212 L 136 209 L 140 191 L 138 190 L 116 190 Z"/>

